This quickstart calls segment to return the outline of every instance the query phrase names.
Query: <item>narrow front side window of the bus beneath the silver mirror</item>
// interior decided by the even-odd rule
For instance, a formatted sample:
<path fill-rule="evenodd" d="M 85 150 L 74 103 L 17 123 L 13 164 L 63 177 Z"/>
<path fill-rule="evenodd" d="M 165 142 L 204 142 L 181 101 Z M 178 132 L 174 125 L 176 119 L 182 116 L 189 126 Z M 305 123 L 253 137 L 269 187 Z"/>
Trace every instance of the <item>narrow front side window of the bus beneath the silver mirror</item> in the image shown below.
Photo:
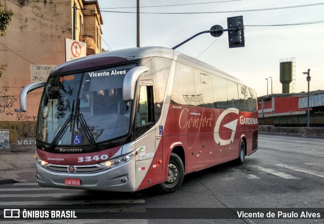
<path fill-rule="evenodd" d="M 136 136 L 140 136 L 155 123 L 153 86 L 140 86 L 136 115 Z"/>

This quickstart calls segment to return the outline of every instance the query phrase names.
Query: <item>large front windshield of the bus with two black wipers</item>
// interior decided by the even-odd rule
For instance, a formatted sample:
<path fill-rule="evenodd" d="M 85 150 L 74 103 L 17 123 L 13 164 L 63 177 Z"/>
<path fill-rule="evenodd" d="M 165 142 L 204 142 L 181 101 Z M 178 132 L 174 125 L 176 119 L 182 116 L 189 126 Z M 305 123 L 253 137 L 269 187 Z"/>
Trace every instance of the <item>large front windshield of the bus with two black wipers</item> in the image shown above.
<path fill-rule="evenodd" d="M 39 109 L 37 139 L 52 146 L 94 147 L 127 135 L 132 102 L 123 101 L 122 90 L 126 73 L 134 67 L 50 76 Z"/>

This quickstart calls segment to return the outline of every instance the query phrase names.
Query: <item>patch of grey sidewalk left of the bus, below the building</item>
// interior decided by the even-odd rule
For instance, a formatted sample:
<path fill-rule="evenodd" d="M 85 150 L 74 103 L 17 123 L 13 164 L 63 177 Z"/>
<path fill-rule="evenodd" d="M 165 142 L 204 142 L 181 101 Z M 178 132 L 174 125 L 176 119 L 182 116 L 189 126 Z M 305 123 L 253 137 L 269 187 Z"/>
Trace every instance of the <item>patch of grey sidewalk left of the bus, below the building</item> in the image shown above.
<path fill-rule="evenodd" d="M 0 150 L 0 184 L 36 182 L 34 152 Z"/>

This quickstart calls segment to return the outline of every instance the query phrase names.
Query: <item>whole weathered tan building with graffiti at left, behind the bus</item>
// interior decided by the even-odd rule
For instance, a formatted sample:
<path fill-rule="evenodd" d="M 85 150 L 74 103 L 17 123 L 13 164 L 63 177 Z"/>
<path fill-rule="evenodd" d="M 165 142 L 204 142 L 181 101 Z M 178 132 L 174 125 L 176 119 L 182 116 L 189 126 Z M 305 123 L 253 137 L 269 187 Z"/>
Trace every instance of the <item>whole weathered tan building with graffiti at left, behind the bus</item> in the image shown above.
<path fill-rule="evenodd" d="M 0 64 L 8 65 L 0 77 L 0 149 L 33 150 L 43 89 L 28 95 L 26 113 L 20 111 L 21 89 L 29 83 L 46 80 L 55 66 L 65 62 L 65 38 L 73 39 L 73 24 L 75 40 L 87 43 L 87 55 L 101 52 L 102 18 L 97 1 L 0 0 L 0 3 L 14 13 L 7 36 L 0 37 Z"/>

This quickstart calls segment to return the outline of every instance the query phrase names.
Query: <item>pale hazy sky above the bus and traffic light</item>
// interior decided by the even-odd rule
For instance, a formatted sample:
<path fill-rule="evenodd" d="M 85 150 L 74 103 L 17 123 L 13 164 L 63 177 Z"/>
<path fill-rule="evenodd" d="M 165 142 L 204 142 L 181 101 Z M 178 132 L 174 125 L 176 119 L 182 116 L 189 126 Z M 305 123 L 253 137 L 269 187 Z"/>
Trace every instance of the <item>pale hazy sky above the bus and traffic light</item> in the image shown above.
<path fill-rule="evenodd" d="M 102 47 L 136 47 L 136 0 L 98 3 Z M 245 47 L 229 48 L 224 32 L 199 35 L 176 50 L 245 81 L 258 96 L 271 94 L 271 80 L 272 92 L 282 93 L 282 59 L 295 62 L 293 92 L 307 92 L 308 69 L 310 91 L 324 90 L 324 0 L 140 0 L 140 7 L 140 46 L 172 48 L 213 25 L 226 29 L 227 17 L 243 16 Z M 308 24 L 286 25 L 300 23 Z"/>

